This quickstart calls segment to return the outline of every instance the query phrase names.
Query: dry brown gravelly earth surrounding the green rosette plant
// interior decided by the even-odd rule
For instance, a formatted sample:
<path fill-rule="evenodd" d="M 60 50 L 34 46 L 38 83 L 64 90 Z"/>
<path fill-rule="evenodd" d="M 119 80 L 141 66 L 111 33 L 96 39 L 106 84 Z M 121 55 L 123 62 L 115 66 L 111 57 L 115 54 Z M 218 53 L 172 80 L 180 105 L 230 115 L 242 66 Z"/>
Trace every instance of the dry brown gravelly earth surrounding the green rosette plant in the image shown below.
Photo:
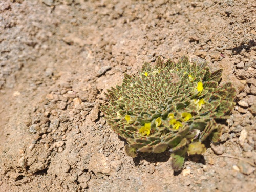
<path fill-rule="evenodd" d="M 255 13 L 254 0 L 0 1 L 0 191 L 256 190 Z M 237 104 L 220 145 L 176 174 L 168 153 L 125 155 L 99 107 L 124 72 L 183 55 L 224 68 Z"/>

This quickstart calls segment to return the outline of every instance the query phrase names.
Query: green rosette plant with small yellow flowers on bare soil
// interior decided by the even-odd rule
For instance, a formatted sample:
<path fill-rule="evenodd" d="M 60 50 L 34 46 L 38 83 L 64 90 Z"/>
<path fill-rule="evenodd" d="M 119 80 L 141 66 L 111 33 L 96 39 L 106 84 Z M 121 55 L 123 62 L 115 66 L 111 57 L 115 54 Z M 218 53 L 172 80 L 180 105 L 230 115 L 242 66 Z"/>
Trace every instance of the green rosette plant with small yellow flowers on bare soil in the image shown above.
<path fill-rule="evenodd" d="M 210 72 L 207 62 L 177 63 L 159 57 L 145 62 L 138 75 L 124 74 L 121 85 L 105 93 L 102 106 L 111 129 L 124 138 L 125 152 L 172 152 L 172 168 L 181 170 L 185 156 L 203 154 L 207 137 L 217 143 L 221 120 L 229 118 L 235 89 L 230 82 L 219 86 L 222 69 Z"/>

